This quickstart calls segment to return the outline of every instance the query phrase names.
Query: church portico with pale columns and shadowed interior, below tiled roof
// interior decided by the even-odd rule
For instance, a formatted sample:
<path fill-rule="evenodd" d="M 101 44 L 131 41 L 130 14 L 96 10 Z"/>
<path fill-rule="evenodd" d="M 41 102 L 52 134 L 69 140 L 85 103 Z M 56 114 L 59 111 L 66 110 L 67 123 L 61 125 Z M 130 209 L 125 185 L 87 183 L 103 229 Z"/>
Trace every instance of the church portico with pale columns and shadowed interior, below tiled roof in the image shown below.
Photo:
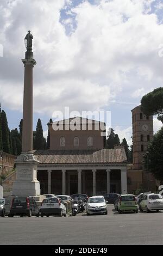
<path fill-rule="evenodd" d="M 47 175 L 45 175 L 47 172 Z M 127 193 L 126 166 L 39 166 L 38 180 L 41 193 L 73 194 L 89 196 L 109 192 Z"/>

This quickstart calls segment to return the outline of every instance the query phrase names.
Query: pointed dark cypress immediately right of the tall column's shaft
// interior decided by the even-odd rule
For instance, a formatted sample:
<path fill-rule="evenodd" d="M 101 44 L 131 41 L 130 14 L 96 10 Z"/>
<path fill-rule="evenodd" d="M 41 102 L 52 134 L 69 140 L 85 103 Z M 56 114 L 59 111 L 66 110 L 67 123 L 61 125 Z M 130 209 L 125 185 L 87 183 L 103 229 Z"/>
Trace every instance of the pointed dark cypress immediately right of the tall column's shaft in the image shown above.
<path fill-rule="evenodd" d="M 34 149 L 45 149 L 45 138 L 43 137 L 43 129 L 40 118 L 37 121 Z"/>

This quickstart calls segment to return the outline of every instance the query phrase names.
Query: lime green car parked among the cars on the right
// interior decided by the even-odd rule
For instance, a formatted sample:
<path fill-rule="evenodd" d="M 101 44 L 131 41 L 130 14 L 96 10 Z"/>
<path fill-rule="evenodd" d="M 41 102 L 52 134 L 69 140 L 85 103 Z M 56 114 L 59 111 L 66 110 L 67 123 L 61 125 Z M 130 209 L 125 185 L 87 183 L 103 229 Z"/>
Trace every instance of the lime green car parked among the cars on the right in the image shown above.
<path fill-rule="evenodd" d="M 137 202 L 134 194 L 122 194 L 118 202 L 118 212 L 122 214 L 123 211 L 138 212 Z"/>

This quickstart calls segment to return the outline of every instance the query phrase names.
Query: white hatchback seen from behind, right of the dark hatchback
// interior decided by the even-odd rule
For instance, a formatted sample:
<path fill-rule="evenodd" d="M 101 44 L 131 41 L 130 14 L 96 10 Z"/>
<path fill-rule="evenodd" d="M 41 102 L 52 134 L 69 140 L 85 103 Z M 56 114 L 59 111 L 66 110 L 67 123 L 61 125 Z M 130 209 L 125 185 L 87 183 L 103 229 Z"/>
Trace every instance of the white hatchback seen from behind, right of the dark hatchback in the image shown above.
<path fill-rule="evenodd" d="M 51 197 L 45 198 L 42 200 L 41 206 L 41 217 L 46 215 L 59 215 L 62 217 L 64 215 L 66 217 L 66 206 L 64 202 L 59 197 Z"/>

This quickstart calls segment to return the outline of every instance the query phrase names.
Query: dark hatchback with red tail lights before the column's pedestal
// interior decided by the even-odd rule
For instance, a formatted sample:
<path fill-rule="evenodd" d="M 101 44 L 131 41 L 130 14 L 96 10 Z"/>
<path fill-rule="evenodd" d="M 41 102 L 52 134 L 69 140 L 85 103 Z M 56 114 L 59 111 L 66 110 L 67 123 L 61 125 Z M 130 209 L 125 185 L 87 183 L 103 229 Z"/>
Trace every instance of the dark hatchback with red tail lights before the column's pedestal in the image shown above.
<path fill-rule="evenodd" d="M 14 197 L 11 203 L 11 209 L 9 217 L 14 217 L 14 215 L 40 216 L 40 209 L 36 205 L 35 199 L 33 197 Z"/>

